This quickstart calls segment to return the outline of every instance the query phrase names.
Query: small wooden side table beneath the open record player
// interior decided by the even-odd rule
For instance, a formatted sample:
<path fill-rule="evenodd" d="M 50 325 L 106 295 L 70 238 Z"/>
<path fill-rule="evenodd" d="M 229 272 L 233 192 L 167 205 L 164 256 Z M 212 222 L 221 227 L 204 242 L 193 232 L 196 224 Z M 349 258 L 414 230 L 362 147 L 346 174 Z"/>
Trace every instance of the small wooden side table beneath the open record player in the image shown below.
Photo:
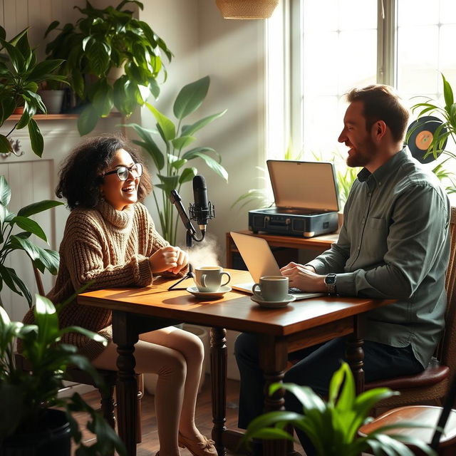
<path fill-rule="evenodd" d="M 298 236 L 281 236 L 277 234 L 254 234 L 247 229 L 238 231 L 237 233 L 247 234 L 248 236 L 262 237 L 271 247 L 286 247 L 288 249 L 312 249 L 312 250 L 326 250 L 331 247 L 333 242 L 338 239 L 338 234 L 326 234 L 318 237 L 298 237 Z M 227 233 L 227 268 L 233 267 L 233 254 L 238 252 L 236 244 L 229 234 Z"/>

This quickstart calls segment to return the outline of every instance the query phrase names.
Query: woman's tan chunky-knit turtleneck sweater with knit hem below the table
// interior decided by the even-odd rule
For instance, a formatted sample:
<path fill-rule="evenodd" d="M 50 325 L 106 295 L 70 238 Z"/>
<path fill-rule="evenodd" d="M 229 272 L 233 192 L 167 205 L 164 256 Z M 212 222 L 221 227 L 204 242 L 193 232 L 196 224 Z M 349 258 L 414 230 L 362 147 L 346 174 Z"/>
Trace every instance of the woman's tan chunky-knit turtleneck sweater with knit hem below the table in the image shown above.
<path fill-rule="evenodd" d="M 73 209 L 66 222 L 60 247 L 56 286 L 48 294 L 61 304 L 83 284 L 89 289 L 115 286 L 146 286 L 152 283 L 149 257 L 168 242 L 155 231 L 149 212 L 142 204 L 130 204 L 122 211 L 101 202 L 94 209 Z M 33 309 L 24 323 L 33 323 Z M 72 301 L 60 314 L 60 326 L 82 326 L 112 340 L 111 312 L 81 306 Z M 78 347 L 89 359 L 96 358 L 103 345 L 77 333 L 62 342 Z"/>

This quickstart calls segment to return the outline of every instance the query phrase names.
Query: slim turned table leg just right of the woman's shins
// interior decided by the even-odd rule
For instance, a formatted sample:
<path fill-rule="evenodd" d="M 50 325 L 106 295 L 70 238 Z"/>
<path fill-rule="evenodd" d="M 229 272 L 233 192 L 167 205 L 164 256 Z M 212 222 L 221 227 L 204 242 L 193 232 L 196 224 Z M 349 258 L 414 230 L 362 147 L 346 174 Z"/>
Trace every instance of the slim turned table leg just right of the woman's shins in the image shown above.
<path fill-rule="evenodd" d="M 227 411 L 227 331 L 211 328 L 211 380 L 212 380 L 212 440 L 219 456 L 227 454 L 223 444 L 223 433 Z"/>

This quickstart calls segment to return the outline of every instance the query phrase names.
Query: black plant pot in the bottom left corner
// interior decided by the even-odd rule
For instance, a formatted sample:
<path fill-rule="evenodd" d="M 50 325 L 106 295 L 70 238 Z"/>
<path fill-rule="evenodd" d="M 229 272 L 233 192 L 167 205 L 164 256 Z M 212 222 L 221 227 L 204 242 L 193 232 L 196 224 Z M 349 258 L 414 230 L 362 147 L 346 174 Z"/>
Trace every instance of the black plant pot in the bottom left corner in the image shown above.
<path fill-rule="evenodd" d="M 7 437 L 0 456 L 70 456 L 70 423 L 65 412 L 46 410 L 46 429 Z"/>

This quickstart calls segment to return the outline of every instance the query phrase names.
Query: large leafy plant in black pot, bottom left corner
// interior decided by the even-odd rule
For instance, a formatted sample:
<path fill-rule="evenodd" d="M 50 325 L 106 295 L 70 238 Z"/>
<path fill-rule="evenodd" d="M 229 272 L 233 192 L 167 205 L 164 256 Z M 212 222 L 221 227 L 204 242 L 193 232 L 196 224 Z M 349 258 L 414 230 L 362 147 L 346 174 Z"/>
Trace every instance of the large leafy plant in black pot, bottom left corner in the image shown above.
<path fill-rule="evenodd" d="M 84 328 L 59 328 L 58 312 L 65 305 L 56 309 L 51 301 L 36 295 L 36 323 L 33 325 L 10 321 L 0 307 L 0 403 L 3 410 L 8 410 L 0 414 L 1 456 L 69 456 L 71 437 L 78 445 L 77 455 L 112 455 L 114 450 L 125 455 L 118 435 L 78 393 L 71 398 L 58 398 L 58 390 L 63 388 L 63 374 L 69 365 L 98 378 L 95 368 L 77 353 L 76 347 L 58 343 L 63 334 L 81 333 L 106 343 L 103 337 Z M 31 373 L 16 367 L 14 348 L 18 339 L 31 365 Z M 82 442 L 79 425 L 73 418 L 73 413 L 79 411 L 88 414 L 87 429 L 97 437 L 91 446 Z"/>

